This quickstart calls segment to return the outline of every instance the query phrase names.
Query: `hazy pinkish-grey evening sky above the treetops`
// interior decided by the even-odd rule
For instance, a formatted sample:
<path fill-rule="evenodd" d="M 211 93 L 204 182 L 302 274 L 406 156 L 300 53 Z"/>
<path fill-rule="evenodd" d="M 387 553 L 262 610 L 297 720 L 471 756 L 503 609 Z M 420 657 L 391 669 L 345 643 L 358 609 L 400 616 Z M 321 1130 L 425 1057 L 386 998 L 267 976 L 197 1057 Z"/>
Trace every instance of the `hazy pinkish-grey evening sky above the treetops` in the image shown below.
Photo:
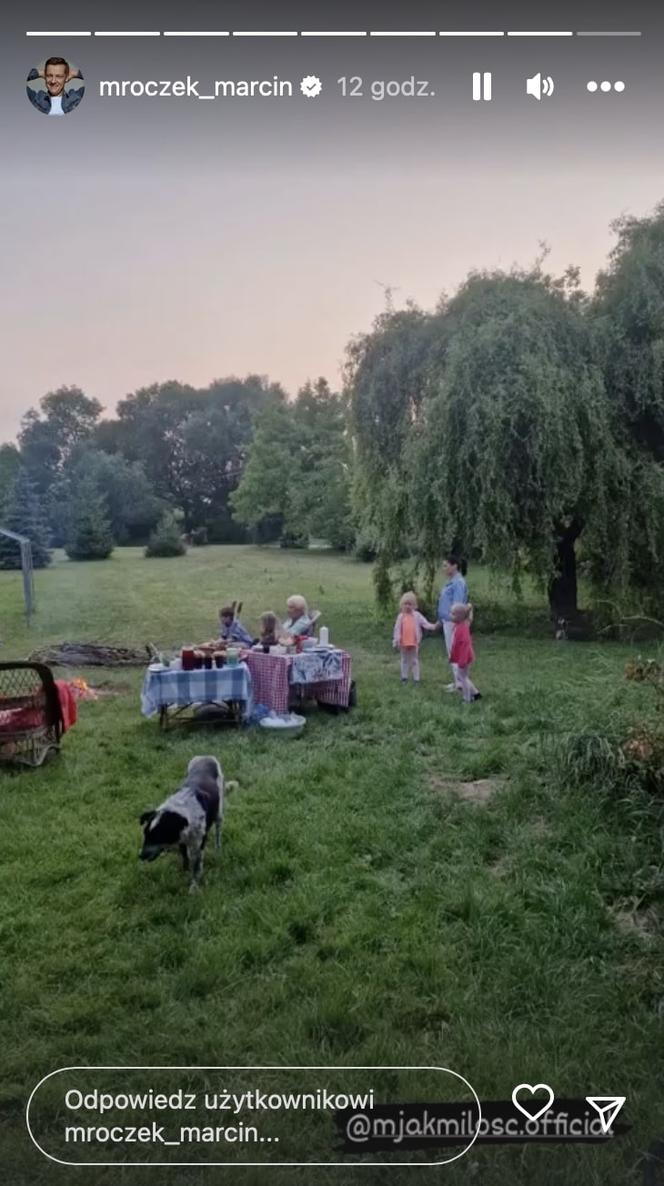
<path fill-rule="evenodd" d="M 0 440 L 49 390 L 111 415 L 138 388 L 264 374 L 341 381 L 384 286 L 430 307 L 472 268 L 581 267 L 611 222 L 664 198 L 664 19 L 647 4 L 58 6 L 5 15 L 0 44 Z M 471 11 L 468 11 L 471 9 Z M 129 38 L 71 31 L 639 31 L 624 38 Z M 59 36 L 26 37 L 26 32 Z M 62 55 L 85 96 L 50 119 L 31 66 Z M 473 72 L 492 100 L 473 101 Z M 535 100 L 541 72 L 554 94 Z M 261 79 L 292 97 L 104 98 L 102 79 Z M 317 75 L 318 97 L 299 93 Z M 360 96 L 339 78 L 362 78 Z M 371 98 L 375 81 L 426 94 Z M 625 90 L 588 93 L 588 81 Z M 346 83 L 346 88 L 357 83 Z"/>

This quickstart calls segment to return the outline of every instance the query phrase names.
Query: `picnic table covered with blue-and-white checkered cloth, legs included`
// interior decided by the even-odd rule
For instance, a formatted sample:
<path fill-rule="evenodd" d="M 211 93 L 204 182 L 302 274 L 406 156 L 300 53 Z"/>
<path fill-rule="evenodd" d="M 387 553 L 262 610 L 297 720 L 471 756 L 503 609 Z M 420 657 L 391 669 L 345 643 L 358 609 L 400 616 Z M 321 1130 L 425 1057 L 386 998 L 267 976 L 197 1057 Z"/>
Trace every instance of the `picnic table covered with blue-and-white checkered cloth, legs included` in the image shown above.
<path fill-rule="evenodd" d="M 245 663 L 185 671 L 179 661 L 171 667 L 151 664 L 141 691 L 143 716 L 157 716 L 166 728 L 175 716 L 202 706 L 226 706 L 229 719 L 241 725 L 251 715 L 251 674 Z M 219 719 L 218 716 L 216 718 Z"/>

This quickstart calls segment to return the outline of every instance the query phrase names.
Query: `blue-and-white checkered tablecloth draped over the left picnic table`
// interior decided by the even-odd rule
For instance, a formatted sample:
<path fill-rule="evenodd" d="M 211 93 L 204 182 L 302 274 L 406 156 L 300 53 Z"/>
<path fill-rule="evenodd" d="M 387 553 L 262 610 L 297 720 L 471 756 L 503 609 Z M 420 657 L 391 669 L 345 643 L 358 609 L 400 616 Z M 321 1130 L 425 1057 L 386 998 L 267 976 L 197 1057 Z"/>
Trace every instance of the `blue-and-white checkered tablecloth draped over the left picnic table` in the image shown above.
<path fill-rule="evenodd" d="M 154 716 L 160 708 L 184 704 L 216 704 L 226 700 L 244 701 L 244 716 L 251 713 L 251 674 L 245 663 L 237 667 L 202 668 L 183 671 L 180 667 L 146 671 L 141 690 L 143 716 Z"/>

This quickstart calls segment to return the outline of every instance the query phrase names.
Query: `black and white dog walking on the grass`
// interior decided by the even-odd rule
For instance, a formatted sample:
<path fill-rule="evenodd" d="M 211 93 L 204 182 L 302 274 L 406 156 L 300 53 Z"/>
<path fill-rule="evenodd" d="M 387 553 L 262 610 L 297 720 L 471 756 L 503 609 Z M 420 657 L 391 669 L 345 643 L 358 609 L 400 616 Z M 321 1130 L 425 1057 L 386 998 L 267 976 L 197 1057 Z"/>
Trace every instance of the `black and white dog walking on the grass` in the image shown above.
<path fill-rule="evenodd" d="M 231 790 L 235 783 L 229 783 Z M 161 806 L 143 811 L 143 847 L 141 861 L 154 861 L 161 853 L 178 848 L 185 872 L 191 873 L 191 890 L 203 874 L 203 849 L 215 824 L 216 848 L 222 847 L 224 818 L 224 776 L 216 758 L 192 758 L 186 778 L 178 791 Z"/>

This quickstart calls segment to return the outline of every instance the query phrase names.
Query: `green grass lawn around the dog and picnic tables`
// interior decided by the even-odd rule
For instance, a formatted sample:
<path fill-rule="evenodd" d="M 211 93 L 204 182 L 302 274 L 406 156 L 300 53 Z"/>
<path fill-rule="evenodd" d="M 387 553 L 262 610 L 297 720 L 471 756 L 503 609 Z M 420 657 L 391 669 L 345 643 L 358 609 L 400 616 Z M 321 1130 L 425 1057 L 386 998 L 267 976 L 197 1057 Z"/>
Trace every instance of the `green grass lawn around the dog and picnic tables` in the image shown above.
<path fill-rule="evenodd" d="M 295 741 L 164 737 L 140 715 L 141 672 L 88 671 L 116 694 L 81 706 L 52 764 L 0 773 L 12 1186 L 640 1180 L 639 1152 L 664 1135 L 662 821 L 638 793 L 566 785 L 555 742 L 643 716 L 649 690 L 622 678 L 630 646 L 481 632 L 497 594 L 470 581 L 484 700 L 464 706 L 442 690 L 439 638 L 422 686 L 401 686 L 370 568 L 331 554 L 58 556 L 37 574 L 30 632 L 20 580 L 0 574 L 4 658 L 71 638 L 179 646 L 209 637 L 229 598 L 250 623 L 302 592 L 352 652 L 359 696 L 347 715 L 312 713 Z M 138 817 L 206 751 L 240 789 L 190 895 L 174 859 L 139 863 Z M 487 802 L 455 793 L 477 779 L 493 780 Z M 70 1064 L 448 1066 L 483 1099 L 522 1082 L 626 1095 L 632 1128 L 611 1147 L 475 1146 L 445 1169 L 72 1171 L 23 1118 L 34 1084 Z"/>

